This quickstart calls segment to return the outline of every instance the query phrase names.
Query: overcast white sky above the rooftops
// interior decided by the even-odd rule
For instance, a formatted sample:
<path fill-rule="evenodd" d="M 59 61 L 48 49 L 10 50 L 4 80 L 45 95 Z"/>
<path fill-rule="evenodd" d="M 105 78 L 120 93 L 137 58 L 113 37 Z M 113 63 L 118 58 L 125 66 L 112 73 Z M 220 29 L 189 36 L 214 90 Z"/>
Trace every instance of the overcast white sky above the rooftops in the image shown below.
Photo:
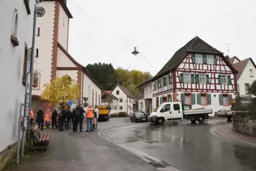
<path fill-rule="evenodd" d="M 199 36 L 225 55 L 229 43 L 229 56 L 256 60 L 256 5 L 211 21 L 254 4 L 255 0 L 68 0 L 73 15 L 69 53 L 84 66 L 105 62 L 155 75 L 177 49 Z M 134 46 L 153 69 L 141 55 L 131 54 Z"/>

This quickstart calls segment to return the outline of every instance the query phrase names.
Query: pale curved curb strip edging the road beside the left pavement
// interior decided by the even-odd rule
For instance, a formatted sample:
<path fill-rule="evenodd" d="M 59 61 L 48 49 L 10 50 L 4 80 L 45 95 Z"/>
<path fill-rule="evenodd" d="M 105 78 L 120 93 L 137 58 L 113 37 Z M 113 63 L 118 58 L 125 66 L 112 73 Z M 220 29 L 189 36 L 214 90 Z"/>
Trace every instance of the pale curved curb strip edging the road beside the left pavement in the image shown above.
<path fill-rule="evenodd" d="M 145 125 L 145 124 L 148 124 L 148 123 L 144 123 L 143 125 Z M 140 150 L 138 150 L 138 149 L 135 149 L 135 148 L 129 146 L 128 144 L 125 144 L 125 143 L 119 142 L 119 141 L 117 141 L 117 140 L 115 140 L 115 139 L 112 139 L 112 138 L 110 138 L 109 136 L 108 136 L 108 137 L 109 137 L 109 139 L 108 139 L 108 138 L 106 138 L 106 137 L 103 135 L 103 132 L 105 132 L 105 131 L 107 131 L 107 130 L 114 129 L 114 128 L 116 128 L 116 127 L 123 127 L 123 126 L 130 126 L 130 125 L 138 125 L 138 124 L 129 124 L 129 125 L 120 125 L 120 126 L 109 127 L 109 128 L 107 128 L 107 129 L 100 130 L 100 131 L 98 132 L 98 135 L 99 135 L 101 138 L 104 138 L 105 140 L 107 140 L 107 141 L 109 141 L 109 142 L 115 144 L 116 146 L 121 147 L 121 148 L 123 148 L 124 150 L 127 150 L 127 151 L 133 153 L 134 155 L 140 157 L 141 159 L 143 159 L 144 161 L 146 161 L 146 162 L 147 162 L 148 164 L 150 164 L 150 165 L 152 165 L 152 163 L 159 163 L 159 164 L 165 164 L 165 165 L 166 165 L 165 168 L 158 168 L 158 167 L 155 167 L 155 166 L 152 165 L 152 166 L 155 167 L 156 170 L 158 170 L 158 171 L 174 171 L 174 170 L 175 170 L 175 171 L 181 171 L 180 169 L 178 169 L 178 168 L 176 168 L 176 167 L 174 167 L 174 166 L 171 166 L 171 165 L 167 164 L 165 161 L 160 160 L 160 159 L 158 159 L 158 158 L 155 158 L 155 157 L 149 155 L 148 153 L 142 152 L 142 151 L 140 151 Z M 141 124 L 141 125 L 142 125 L 142 124 Z M 106 136 L 107 136 L 107 135 L 106 135 Z"/>

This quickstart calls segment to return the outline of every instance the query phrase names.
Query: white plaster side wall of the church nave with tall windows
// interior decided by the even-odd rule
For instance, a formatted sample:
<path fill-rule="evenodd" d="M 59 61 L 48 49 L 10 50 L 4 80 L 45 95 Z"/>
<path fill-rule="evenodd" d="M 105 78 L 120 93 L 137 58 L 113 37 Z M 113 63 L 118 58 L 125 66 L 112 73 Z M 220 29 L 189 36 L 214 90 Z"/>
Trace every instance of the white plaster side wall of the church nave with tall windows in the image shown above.
<path fill-rule="evenodd" d="M 81 79 L 82 80 L 82 79 Z M 82 84 L 82 82 L 81 82 Z M 98 88 L 89 78 L 86 74 L 83 73 L 83 96 L 82 97 L 89 97 L 88 104 L 92 105 L 92 100 L 94 101 L 93 105 L 101 105 L 101 90 Z M 94 92 L 94 98 L 92 99 L 92 90 Z M 97 92 L 97 101 L 96 101 L 96 92 Z M 81 99 L 82 99 L 81 97 Z M 100 99 L 100 100 L 99 100 Z M 82 99 L 83 100 L 83 99 Z M 85 101 L 83 101 L 84 103 Z M 87 107 L 84 108 L 87 110 Z"/>

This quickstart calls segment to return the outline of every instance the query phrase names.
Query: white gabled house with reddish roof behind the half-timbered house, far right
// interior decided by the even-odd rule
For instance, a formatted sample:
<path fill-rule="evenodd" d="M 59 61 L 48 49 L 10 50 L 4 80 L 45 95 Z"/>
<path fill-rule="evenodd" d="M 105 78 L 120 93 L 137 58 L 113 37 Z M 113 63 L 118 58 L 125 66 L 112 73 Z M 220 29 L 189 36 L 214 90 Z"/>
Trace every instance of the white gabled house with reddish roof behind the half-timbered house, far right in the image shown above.
<path fill-rule="evenodd" d="M 238 95 L 248 95 L 248 88 L 256 76 L 255 63 L 250 57 L 241 61 L 236 56 L 230 58 L 229 62 L 238 71 L 236 74 Z"/>

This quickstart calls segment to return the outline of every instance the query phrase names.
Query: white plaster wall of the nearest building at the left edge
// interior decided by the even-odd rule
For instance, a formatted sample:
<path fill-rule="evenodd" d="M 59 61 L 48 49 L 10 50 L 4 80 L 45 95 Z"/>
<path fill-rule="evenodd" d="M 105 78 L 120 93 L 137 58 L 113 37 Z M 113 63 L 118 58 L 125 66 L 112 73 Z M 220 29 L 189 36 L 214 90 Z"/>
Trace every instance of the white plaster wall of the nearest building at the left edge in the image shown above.
<path fill-rule="evenodd" d="M 28 15 L 23 1 L 0 1 L 0 72 L 4 83 L 0 84 L 0 152 L 18 140 L 20 103 L 24 103 L 25 86 L 22 85 L 25 42 L 32 46 L 34 1 L 30 1 Z M 13 27 L 13 12 L 18 10 L 17 38 L 14 47 L 10 37 Z"/>

